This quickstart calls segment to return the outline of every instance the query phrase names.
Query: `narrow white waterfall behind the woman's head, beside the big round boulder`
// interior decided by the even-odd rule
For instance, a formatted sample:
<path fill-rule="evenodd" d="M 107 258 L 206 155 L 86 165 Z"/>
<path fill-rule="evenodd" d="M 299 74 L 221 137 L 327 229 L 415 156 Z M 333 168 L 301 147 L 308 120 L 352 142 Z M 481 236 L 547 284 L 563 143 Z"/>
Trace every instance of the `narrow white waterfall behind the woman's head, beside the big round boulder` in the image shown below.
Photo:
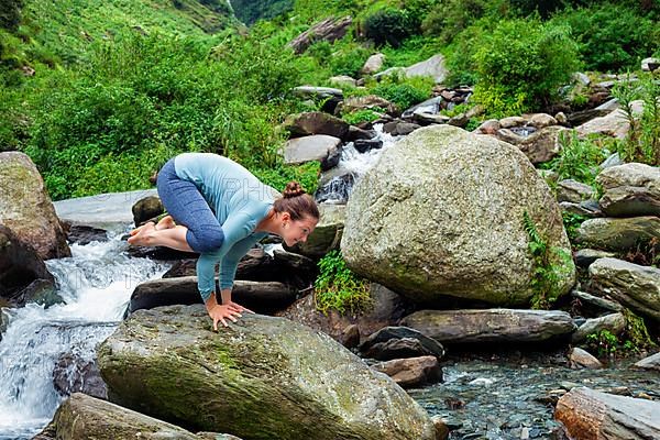
<path fill-rule="evenodd" d="M 324 204 L 345 204 L 351 195 L 354 184 L 370 169 L 381 157 L 381 154 L 393 145 L 399 136 L 393 136 L 383 132 L 383 124 L 375 124 L 374 140 L 383 142 L 381 148 L 373 148 L 360 153 L 353 142 L 345 144 L 341 152 L 339 164 L 321 176 L 324 184 L 316 193 L 316 199 Z"/>

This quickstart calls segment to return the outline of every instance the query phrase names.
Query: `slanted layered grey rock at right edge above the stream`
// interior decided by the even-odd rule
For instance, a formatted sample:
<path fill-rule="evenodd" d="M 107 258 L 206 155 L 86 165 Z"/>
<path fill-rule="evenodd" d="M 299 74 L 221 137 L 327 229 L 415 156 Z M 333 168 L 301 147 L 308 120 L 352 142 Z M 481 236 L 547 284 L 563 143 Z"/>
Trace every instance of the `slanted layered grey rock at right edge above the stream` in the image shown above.
<path fill-rule="evenodd" d="M 594 289 L 603 292 L 638 315 L 660 321 L 660 270 L 617 258 L 601 258 L 588 266 Z"/>

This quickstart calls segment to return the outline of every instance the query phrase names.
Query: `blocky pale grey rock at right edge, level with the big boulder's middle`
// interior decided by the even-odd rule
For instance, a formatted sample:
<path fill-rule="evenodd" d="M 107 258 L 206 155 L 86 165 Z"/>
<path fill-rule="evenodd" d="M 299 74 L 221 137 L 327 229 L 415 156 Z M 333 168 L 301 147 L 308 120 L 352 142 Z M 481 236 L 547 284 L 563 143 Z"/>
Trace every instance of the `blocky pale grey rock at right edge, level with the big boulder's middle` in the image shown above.
<path fill-rule="evenodd" d="M 609 217 L 660 216 L 660 168 L 645 164 L 612 166 L 598 174 L 600 200 Z"/>

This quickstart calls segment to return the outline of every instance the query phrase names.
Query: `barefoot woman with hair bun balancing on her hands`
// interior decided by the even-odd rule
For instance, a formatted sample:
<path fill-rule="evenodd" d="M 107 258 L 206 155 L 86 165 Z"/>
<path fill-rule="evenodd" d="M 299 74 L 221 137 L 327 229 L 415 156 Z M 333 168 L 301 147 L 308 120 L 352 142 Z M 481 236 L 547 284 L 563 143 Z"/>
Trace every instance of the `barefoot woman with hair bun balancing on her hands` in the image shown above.
<path fill-rule="evenodd" d="M 210 153 L 184 153 L 158 173 L 158 195 L 167 217 L 131 232 L 129 243 L 198 252 L 198 288 L 207 311 L 227 327 L 251 311 L 231 299 L 239 261 L 268 233 L 287 245 L 305 242 L 319 220 L 314 198 L 300 185 L 278 194 L 230 158 Z M 220 295 L 216 265 L 220 264 Z"/>

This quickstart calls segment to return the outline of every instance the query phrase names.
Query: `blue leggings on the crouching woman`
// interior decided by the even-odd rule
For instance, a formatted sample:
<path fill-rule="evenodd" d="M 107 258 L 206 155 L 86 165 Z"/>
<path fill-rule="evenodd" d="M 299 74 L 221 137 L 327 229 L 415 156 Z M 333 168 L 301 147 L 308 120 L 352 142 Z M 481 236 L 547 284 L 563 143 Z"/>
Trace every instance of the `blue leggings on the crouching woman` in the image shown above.
<path fill-rule="evenodd" d="M 188 228 L 186 241 L 193 251 L 211 252 L 222 245 L 220 222 L 195 184 L 176 175 L 173 158 L 158 172 L 156 187 L 165 210 L 177 224 Z"/>

